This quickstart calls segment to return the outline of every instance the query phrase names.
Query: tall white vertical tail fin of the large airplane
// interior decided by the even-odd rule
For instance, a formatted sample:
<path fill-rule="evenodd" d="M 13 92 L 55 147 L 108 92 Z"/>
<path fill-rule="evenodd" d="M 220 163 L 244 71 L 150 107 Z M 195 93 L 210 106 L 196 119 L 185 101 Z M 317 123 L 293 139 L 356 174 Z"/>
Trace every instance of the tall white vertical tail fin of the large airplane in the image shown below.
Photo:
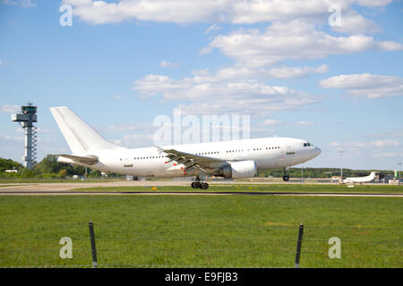
<path fill-rule="evenodd" d="M 73 154 L 88 154 L 94 149 L 124 149 L 108 142 L 68 107 L 50 107 L 50 112 Z"/>

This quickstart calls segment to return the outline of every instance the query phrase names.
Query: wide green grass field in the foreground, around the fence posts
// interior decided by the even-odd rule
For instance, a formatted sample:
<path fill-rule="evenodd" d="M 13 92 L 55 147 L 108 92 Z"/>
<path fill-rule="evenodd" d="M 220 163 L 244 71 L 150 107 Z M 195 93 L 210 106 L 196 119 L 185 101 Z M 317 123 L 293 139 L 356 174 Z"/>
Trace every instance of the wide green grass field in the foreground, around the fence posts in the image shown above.
<path fill-rule="evenodd" d="M 0 197 L 0 266 L 402 267 L 401 198 L 272 196 Z M 341 259 L 327 255 L 341 240 Z M 73 240 L 73 259 L 58 256 Z"/>

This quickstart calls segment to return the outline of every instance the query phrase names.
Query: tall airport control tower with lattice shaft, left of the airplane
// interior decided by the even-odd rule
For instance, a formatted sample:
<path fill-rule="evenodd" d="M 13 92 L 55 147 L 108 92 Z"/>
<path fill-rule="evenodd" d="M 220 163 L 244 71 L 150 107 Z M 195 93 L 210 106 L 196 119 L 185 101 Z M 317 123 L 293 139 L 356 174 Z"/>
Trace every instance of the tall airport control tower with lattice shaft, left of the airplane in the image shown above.
<path fill-rule="evenodd" d="M 37 129 L 33 126 L 37 122 L 37 106 L 32 103 L 21 106 L 21 114 L 12 115 L 13 122 L 19 122 L 25 130 L 25 156 L 22 157 L 25 168 L 31 170 L 37 163 Z"/>

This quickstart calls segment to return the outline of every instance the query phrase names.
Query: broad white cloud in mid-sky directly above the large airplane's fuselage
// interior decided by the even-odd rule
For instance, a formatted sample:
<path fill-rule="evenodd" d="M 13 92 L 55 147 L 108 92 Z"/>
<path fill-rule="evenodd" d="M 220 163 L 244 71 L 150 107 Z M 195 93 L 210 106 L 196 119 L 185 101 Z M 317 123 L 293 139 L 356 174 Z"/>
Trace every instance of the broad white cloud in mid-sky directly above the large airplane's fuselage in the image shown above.
<path fill-rule="evenodd" d="M 287 87 L 269 86 L 257 80 L 227 80 L 210 73 L 173 80 L 149 74 L 133 86 L 141 97 L 160 95 L 163 100 L 187 101 L 188 114 L 260 114 L 301 108 L 319 97 Z"/>

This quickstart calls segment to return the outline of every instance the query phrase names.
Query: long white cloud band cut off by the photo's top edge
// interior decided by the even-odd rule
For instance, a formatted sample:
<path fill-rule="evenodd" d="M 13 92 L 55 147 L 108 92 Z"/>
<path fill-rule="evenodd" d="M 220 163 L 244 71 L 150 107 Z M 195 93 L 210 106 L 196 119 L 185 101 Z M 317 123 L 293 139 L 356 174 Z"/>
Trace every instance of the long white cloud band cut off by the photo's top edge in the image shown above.
<path fill-rule="evenodd" d="M 339 2 L 343 13 L 350 12 L 358 2 L 362 6 L 385 6 L 390 1 Z M 127 20 L 188 22 L 229 22 L 252 24 L 264 21 L 326 21 L 333 0 L 121 0 L 117 3 L 92 0 L 64 0 L 72 4 L 74 15 L 92 24 Z"/>

